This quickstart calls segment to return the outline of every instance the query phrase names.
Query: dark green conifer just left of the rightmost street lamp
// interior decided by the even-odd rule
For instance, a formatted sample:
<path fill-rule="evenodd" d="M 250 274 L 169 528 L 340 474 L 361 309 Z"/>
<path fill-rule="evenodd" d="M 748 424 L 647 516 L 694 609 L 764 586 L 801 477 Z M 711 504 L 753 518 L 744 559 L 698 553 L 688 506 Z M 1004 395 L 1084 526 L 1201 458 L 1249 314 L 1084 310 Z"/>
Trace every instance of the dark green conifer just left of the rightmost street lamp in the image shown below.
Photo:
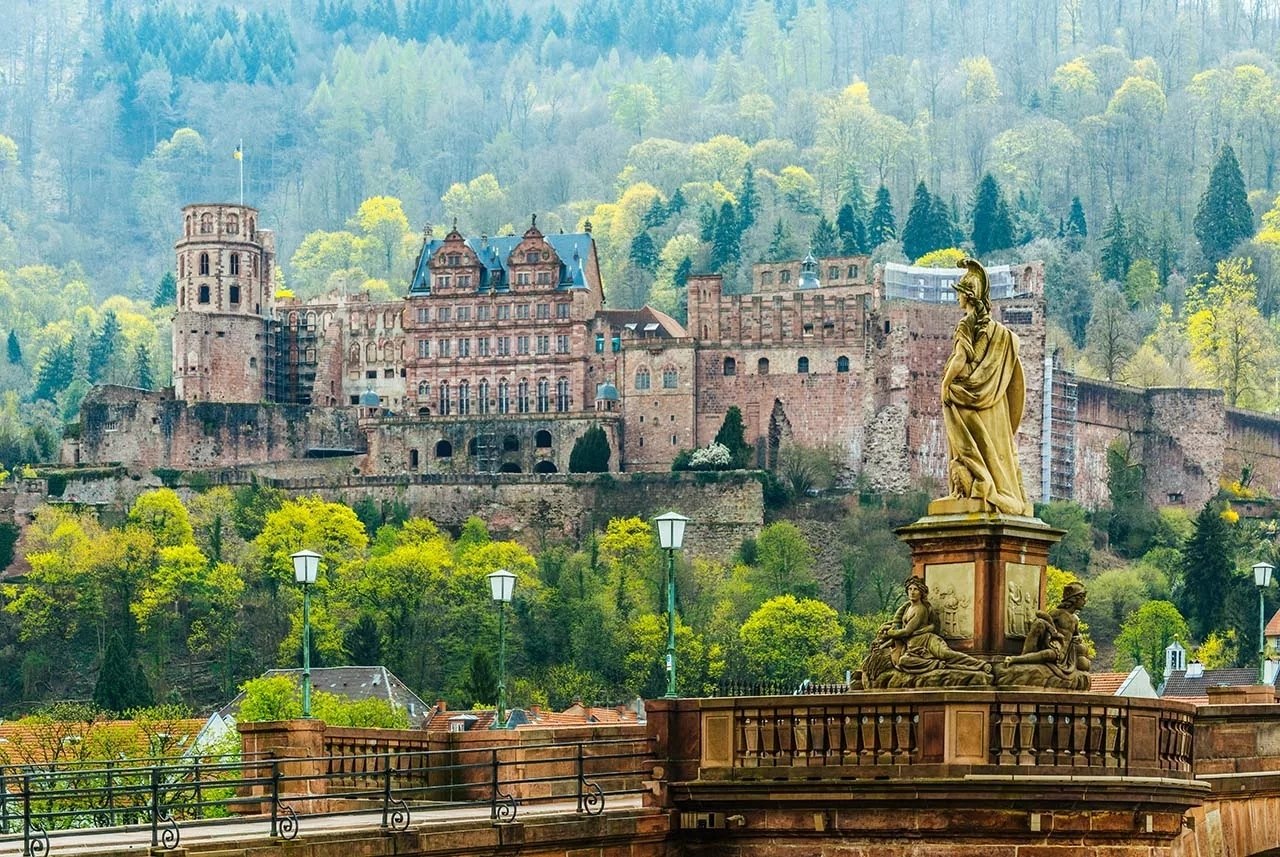
<path fill-rule="evenodd" d="M 1231 532 L 1222 518 L 1222 507 L 1210 500 L 1196 515 L 1196 532 L 1183 551 L 1183 582 L 1178 590 L 1178 609 L 1197 640 L 1222 628 L 1234 574 Z"/>

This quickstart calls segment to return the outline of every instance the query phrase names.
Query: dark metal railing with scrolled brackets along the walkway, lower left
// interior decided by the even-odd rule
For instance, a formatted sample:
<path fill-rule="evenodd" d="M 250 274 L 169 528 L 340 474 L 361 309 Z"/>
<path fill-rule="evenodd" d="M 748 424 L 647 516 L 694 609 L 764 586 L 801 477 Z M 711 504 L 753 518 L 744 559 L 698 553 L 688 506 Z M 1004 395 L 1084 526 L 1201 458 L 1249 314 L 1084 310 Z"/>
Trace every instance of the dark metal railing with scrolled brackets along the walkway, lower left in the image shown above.
<path fill-rule="evenodd" d="M 652 775 L 652 739 L 612 738 L 362 756 L 228 761 L 142 760 L 0 767 L 0 845 L 46 857 L 56 840 L 111 831 L 120 844 L 172 849 L 184 825 L 261 821 L 293 839 L 308 819 L 379 816 L 406 830 L 415 811 L 488 808 L 493 824 L 521 807 L 573 802 L 599 815 L 609 797 L 639 794 Z"/>

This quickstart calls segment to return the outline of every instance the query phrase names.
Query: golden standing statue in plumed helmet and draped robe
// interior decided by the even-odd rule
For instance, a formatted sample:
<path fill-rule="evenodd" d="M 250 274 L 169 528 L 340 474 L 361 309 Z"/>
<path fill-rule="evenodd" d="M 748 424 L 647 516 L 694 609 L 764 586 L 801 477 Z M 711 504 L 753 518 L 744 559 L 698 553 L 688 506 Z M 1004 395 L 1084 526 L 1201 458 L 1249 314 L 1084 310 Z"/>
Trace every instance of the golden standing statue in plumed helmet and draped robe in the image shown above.
<path fill-rule="evenodd" d="M 1014 435 L 1027 395 L 1018 336 L 991 317 L 991 285 L 977 260 L 955 284 L 964 318 L 942 372 L 942 417 L 947 431 L 950 498 L 931 513 L 1002 512 L 1030 515 Z"/>

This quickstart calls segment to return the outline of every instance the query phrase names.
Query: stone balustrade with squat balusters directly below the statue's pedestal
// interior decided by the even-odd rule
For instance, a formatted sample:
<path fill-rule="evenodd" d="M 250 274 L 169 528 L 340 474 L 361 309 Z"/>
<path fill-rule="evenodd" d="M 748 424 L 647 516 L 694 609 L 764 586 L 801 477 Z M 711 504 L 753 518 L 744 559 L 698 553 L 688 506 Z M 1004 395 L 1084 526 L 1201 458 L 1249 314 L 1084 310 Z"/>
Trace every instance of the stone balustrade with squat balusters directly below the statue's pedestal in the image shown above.
<path fill-rule="evenodd" d="M 1089 693 L 913 691 L 680 700 L 659 734 L 684 742 L 680 779 L 1091 774 L 1192 779 L 1193 712 Z M 692 762 L 696 760 L 696 767 Z M 680 769 L 680 765 L 676 765 Z M 818 771 L 803 774 L 817 775 Z"/>

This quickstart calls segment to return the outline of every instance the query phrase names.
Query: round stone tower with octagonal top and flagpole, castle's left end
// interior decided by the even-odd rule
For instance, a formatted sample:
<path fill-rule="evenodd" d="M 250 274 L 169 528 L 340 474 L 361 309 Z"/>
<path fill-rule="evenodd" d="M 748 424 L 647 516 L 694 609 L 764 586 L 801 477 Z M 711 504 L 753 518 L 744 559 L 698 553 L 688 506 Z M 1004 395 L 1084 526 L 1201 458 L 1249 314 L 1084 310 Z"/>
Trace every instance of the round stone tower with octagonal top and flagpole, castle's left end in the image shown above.
<path fill-rule="evenodd" d="M 186 206 L 174 249 L 174 395 L 187 402 L 271 399 L 275 239 L 257 229 L 257 208 Z"/>

